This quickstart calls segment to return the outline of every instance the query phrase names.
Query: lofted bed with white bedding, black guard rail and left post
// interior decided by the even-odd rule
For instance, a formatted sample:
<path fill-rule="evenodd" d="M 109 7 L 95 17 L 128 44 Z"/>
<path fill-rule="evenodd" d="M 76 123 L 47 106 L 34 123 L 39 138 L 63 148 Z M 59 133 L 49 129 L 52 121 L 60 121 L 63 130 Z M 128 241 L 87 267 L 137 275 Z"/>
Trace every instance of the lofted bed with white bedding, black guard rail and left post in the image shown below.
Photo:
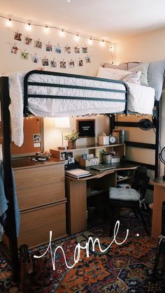
<path fill-rule="evenodd" d="M 3 169 L 8 199 L 6 234 L 10 245 L 13 278 L 17 280 L 19 262 L 15 201 L 10 158 L 10 141 L 22 145 L 23 117 L 143 113 L 152 114 L 155 90 L 122 80 L 77 76 L 50 71 L 29 71 L 1 76 L 1 124 Z M 9 112 L 10 110 L 10 112 Z M 10 139 L 11 129 L 11 139 Z"/>

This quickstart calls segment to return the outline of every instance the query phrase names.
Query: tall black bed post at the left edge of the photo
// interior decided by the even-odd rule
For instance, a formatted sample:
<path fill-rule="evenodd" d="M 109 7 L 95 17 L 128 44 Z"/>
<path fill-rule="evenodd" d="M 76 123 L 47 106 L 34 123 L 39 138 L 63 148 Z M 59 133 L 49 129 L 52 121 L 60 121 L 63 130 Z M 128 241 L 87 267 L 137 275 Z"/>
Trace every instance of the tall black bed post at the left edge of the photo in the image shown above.
<path fill-rule="evenodd" d="M 6 219 L 6 235 L 9 240 L 10 262 L 13 273 L 13 280 L 19 280 L 19 259 L 17 251 L 17 234 L 15 225 L 15 205 L 13 198 L 13 180 L 10 157 L 10 113 L 8 106 L 10 103 L 8 78 L 0 78 L 1 90 L 1 126 L 2 126 L 2 152 L 4 185 L 6 198 L 8 199 L 8 210 Z"/>

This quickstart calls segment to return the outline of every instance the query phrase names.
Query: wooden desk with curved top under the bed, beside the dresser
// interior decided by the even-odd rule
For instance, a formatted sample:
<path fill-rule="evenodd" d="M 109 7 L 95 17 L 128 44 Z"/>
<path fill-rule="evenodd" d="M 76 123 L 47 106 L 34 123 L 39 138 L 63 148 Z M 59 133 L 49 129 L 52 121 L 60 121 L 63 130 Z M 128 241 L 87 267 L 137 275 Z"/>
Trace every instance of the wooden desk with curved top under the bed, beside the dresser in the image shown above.
<path fill-rule="evenodd" d="M 103 172 L 90 170 L 92 176 L 74 179 L 66 176 L 67 197 L 67 224 L 69 234 L 75 234 L 87 229 L 87 185 L 95 189 L 107 191 L 108 188 L 117 186 L 117 171 L 131 171 L 129 182 L 137 166 L 132 164 L 115 164 L 116 169 Z"/>

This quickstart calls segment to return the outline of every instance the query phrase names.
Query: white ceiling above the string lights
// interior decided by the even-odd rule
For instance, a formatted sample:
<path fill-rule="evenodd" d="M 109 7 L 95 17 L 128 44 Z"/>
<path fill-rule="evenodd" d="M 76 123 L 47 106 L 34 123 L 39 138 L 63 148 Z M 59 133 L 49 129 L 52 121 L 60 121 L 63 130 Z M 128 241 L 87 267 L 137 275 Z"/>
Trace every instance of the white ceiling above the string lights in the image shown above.
<path fill-rule="evenodd" d="M 0 14 L 116 41 L 165 27 L 164 0 L 0 0 Z"/>

